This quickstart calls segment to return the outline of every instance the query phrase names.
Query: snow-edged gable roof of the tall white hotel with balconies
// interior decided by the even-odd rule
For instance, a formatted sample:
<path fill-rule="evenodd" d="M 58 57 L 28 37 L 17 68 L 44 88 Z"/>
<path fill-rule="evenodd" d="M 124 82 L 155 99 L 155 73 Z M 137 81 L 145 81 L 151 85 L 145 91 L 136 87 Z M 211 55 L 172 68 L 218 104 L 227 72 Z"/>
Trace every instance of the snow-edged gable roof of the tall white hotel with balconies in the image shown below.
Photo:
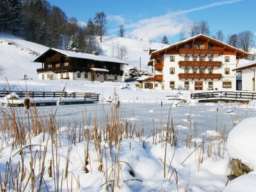
<path fill-rule="evenodd" d="M 204 35 L 204 34 L 199 34 L 199 35 L 196 35 L 196 36 L 192 36 L 192 37 L 190 37 L 190 38 L 187 38 L 186 40 L 182 40 L 182 41 L 177 42 L 177 43 L 175 43 L 175 44 L 169 45 L 168 47 L 163 47 L 162 49 L 158 49 L 158 50 L 156 50 L 156 51 L 153 51 L 152 54 L 151 54 L 150 59 L 152 58 L 152 55 L 153 55 L 154 53 L 156 53 L 156 52 L 163 51 L 163 50 L 165 50 L 165 49 L 169 49 L 169 48 L 175 47 L 176 45 L 179 45 L 179 44 L 184 44 L 184 43 L 189 42 L 189 41 L 191 41 L 191 40 L 193 40 L 193 39 L 195 39 L 195 38 L 198 38 L 198 37 L 200 37 L 200 36 L 203 36 L 203 37 L 208 38 L 208 39 L 210 39 L 210 40 L 212 40 L 212 41 L 214 41 L 214 42 L 218 42 L 219 44 L 223 44 L 223 45 L 225 45 L 225 46 L 227 46 L 227 47 L 230 47 L 230 48 L 232 48 L 232 49 L 235 49 L 236 51 L 239 51 L 239 52 L 243 53 L 244 56 L 249 55 L 248 52 L 245 52 L 245 51 L 243 51 L 243 50 L 241 50 L 241 49 L 237 49 L 236 47 L 233 47 L 232 45 L 225 44 L 225 43 L 223 43 L 223 42 L 221 42 L 221 41 L 219 41 L 219 40 L 216 40 L 215 38 L 212 38 L 212 37 L 210 37 L 210 36 L 207 36 L 207 35 Z"/>

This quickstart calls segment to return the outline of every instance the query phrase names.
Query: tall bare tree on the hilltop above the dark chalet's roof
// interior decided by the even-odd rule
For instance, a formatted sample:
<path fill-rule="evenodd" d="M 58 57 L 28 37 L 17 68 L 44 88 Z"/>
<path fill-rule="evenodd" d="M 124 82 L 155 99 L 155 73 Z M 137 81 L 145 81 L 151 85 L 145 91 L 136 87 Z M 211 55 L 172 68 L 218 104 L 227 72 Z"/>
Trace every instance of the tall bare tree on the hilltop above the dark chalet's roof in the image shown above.
<path fill-rule="evenodd" d="M 100 42 L 102 42 L 102 36 L 107 35 L 107 16 L 104 12 L 97 12 L 94 17 L 95 33 L 100 36 Z"/>

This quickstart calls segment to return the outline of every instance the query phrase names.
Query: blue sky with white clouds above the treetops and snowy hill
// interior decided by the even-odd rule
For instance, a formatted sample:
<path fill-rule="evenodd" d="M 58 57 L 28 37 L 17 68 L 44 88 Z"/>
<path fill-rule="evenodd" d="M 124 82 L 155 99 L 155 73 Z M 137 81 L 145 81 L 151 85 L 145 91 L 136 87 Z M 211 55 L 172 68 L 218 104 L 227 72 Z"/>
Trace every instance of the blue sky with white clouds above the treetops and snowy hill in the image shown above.
<path fill-rule="evenodd" d="M 86 24 L 95 13 L 107 15 L 108 35 L 118 35 L 124 24 L 126 37 L 161 42 L 168 37 L 170 44 L 179 41 L 180 31 L 188 31 L 189 24 L 205 20 L 211 36 L 222 30 L 225 36 L 244 30 L 256 35 L 252 24 L 255 0 L 48 0 L 63 10 L 68 18 L 76 17 Z"/>

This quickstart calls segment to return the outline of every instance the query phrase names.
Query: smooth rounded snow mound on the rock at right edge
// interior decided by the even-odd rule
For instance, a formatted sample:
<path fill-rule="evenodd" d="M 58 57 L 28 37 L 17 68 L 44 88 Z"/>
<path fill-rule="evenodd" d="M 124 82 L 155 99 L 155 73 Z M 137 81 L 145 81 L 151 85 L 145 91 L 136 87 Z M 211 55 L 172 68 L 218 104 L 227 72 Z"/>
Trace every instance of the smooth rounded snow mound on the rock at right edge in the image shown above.
<path fill-rule="evenodd" d="M 233 159 L 256 170 L 256 118 L 246 118 L 230 131 L 227 140 L 228 153 Z"/>

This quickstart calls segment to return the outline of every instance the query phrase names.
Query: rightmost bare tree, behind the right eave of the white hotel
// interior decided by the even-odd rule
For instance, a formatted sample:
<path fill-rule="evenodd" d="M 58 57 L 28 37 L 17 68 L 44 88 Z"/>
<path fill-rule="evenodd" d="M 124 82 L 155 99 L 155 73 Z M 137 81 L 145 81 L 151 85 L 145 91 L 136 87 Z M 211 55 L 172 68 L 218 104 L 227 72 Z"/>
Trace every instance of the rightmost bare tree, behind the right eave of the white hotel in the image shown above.
<path fill-rule="evenodd" d="M 237 34 L 237 44 L 240 49 L 250 52 L 253 47 L 253 33 L 252 31 L 242 31 Z"/>

